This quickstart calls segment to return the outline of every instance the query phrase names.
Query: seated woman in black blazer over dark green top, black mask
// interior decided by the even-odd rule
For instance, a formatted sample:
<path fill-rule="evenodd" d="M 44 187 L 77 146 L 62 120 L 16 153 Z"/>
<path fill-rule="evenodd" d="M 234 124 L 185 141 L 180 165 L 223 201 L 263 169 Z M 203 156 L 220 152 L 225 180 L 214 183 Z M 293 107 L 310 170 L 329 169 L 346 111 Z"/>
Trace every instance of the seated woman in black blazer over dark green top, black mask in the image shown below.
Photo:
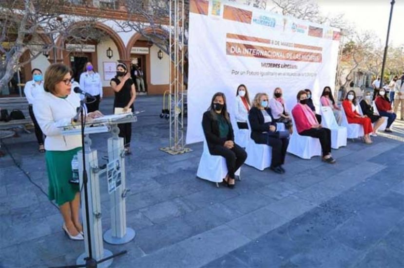
<path fill-rule="evenodd" d="M 227 112 L 226 97 L 222 92 L 213 95 L 211 107 L 203 114 L 203 132 L 209 152 L 226 159 L 228 174 L 223 182 L 234 187 L 234 172 L 246 161 L 247 153 L 234 143 L 233 127 Z"/>

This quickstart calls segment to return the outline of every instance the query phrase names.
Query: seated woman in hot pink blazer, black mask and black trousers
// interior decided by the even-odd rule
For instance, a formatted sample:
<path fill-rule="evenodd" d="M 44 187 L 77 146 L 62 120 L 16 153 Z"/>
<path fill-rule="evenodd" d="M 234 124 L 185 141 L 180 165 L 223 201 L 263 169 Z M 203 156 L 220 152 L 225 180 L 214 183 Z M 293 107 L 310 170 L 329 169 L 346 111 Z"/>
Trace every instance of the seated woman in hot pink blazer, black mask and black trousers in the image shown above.
<path fill-rule="evenodd" d="M 333 164 L 335 160 L 331 156 L 331 130 L 318 124 L 316 115 L 307 105 L 307 100 L 307 92 L 300 90 L 297 93 L 298 103 L 292 109 L 297 132 L 302 136 L 319 139 L 323 151 L 322 160 Z"/>

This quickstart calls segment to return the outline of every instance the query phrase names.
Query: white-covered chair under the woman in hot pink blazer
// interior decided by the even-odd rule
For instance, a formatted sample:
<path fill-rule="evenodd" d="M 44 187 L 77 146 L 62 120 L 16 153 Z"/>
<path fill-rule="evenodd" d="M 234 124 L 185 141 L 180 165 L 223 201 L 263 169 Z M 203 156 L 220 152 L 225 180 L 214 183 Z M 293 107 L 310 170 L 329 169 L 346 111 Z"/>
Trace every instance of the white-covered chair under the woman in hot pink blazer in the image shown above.
<path fill-rule="evenodd" d="M 310 159 L 313 156 L 321 156 L 320 140 L 299 135 L 299 133 L 297 133 L 293 116 L 292 122 L 293 134 L 290 136 L 287 152 L 303 159 Z"/>

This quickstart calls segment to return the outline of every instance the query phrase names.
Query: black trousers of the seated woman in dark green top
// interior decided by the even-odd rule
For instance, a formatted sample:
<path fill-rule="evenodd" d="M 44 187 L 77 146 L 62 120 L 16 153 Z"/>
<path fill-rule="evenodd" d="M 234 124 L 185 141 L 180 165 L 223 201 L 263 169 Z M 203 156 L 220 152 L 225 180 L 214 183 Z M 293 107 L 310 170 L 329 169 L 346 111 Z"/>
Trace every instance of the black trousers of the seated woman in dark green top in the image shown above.
<path fill-rule="evenodd" d="M 214 146 L 210 152 L 212 155 L 219 155 L 226 159 L 227 170 L 231 179 L 234 179 L 234 172 L 236 172 L 247 159 L 246 151 L 235 143 L 234 147 L 231 149 L 225 146 Z"/>

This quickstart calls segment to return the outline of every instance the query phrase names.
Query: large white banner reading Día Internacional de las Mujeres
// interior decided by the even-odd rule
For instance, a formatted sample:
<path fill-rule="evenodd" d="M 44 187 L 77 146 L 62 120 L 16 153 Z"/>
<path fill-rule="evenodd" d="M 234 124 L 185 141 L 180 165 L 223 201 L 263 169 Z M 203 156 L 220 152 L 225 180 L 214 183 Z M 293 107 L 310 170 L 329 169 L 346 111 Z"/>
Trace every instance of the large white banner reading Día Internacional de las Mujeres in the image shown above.
<path fill-rule="evenodd" d="M 215 92 L 226 94 L 232 116 L 240 84 L 251 101 L 258 92 L 272 98 L 280 87 L 289 110 L 302 89 L 318 104 L 322 89 L 335 84 L 339 39 L 336 28 L 230 1 L 191 0 L 187 143 L 203 141 L 202 114 Z"/>

